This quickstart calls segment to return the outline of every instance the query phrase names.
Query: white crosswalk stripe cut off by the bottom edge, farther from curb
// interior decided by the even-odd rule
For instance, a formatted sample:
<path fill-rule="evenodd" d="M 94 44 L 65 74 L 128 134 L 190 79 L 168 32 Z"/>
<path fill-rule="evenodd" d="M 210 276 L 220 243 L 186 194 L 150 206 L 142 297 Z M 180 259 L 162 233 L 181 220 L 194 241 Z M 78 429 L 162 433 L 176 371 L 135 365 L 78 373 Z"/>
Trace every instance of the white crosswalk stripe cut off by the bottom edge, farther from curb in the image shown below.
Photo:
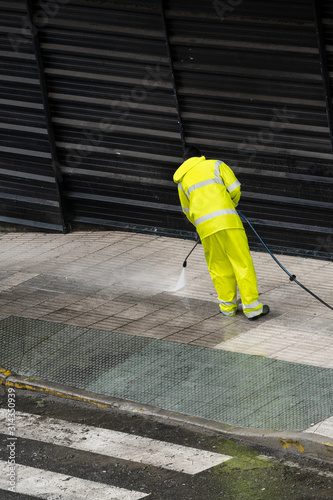
<path fill-rule="evenodd" d="M 0 490 L 9 489 L 8 463 L 0 460 Z M 46 500 L 139 500 L 148 493 L 126 490 L 78 477 L 16 464 L 15 492 Z M 1 496 L 1 494 L 0 494 Z"/>

